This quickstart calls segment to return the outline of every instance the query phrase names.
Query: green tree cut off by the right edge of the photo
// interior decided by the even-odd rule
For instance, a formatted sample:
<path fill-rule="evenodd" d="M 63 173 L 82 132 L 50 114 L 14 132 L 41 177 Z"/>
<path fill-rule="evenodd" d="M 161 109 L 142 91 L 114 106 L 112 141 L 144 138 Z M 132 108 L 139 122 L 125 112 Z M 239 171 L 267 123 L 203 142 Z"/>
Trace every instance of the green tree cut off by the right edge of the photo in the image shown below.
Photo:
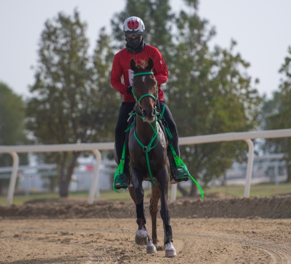
<path fill-rule="evenodd" d="M 265 129 L 290 129 L 291 128 L 291 46 L 284 59 L 279 73 L 283 75 L 279 91 L 273 93 L 273 98 L 266 100 L 263 106 Z M 269 153 L 285 153 L 288 171 L 288 182 L 291 182 L 291 138 L 277 138 L 266 140 L 265 150 Z"/>

